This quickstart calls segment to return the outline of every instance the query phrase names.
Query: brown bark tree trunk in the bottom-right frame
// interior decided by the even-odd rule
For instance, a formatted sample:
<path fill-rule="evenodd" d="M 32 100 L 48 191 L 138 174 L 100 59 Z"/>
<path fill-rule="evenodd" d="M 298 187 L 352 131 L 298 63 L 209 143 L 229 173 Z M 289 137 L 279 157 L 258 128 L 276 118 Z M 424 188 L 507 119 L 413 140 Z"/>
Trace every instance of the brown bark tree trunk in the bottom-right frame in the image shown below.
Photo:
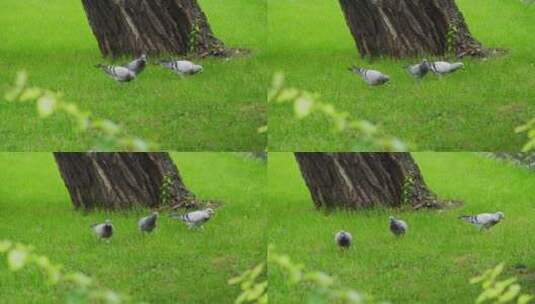
<path fill-rule="evenodd" d="M 441 207 L 409 153 L 295 153 L 318 208 Z"/>

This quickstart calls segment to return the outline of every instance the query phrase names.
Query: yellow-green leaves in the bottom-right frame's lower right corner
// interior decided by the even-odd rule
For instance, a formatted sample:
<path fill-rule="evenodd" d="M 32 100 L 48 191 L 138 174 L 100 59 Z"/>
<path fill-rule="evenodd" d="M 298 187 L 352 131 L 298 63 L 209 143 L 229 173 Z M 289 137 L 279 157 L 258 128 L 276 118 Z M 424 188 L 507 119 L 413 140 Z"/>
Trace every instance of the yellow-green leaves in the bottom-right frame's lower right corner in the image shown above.
<path fill-rule="evenodd" d="M 528 304 L 535 299 L 533 295 L 522 294 L 517 279 L 512 277 L 498 281 L 498 276 L 503 272 L 504 264 L 499 264 L 494 269 L 485 271 L 482 275 L 472 278 L 471 284 L 481 284 L 483 292 L 476 299 L 480 303 L 511 303 Z"/>

